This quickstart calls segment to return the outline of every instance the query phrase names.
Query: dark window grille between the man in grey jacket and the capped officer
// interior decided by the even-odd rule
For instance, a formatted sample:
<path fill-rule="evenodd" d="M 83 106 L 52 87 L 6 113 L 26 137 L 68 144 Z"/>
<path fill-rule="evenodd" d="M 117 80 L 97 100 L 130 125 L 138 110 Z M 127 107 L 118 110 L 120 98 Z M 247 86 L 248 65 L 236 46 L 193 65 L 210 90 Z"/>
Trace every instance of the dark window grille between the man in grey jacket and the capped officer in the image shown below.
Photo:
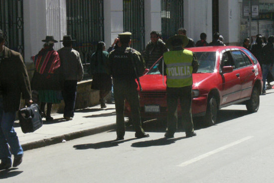
<path fill-rule="evenodd" d="M 84 77 L 89 77 L 89 58 L 98 41 L 104 41 L 103 0 L 66 0 L 67 34 L 76 39 L 73 48 L 80 53 Z"/>

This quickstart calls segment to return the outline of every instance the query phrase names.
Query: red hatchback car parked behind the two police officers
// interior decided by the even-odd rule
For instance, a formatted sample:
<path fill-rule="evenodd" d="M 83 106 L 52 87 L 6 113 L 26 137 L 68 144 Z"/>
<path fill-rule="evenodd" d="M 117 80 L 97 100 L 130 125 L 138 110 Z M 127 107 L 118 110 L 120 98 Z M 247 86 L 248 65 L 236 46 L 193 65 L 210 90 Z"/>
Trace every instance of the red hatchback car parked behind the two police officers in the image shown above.
<path fill-rule="evenodd" d="M 199 62 L 198 72 L 193 74 L 193 116 L 204 116 L 204 121 L 212 125 L 216 123 L 218 109 L 222 107 L 245 104 L 250 112 L 259 109 L 263 88 L 262 70 L 250 51 L 238 46 L 187 49 L 195 53 Z M 139 96 L 143 120 L 165 118 L 167 115 L 166 77 L 160 75 L 159 62 L 155 62 L 140 77 L 142 91 L 139 91 Z M 130 111 L 126 102 L 126 117 L 131 117 Z"/>

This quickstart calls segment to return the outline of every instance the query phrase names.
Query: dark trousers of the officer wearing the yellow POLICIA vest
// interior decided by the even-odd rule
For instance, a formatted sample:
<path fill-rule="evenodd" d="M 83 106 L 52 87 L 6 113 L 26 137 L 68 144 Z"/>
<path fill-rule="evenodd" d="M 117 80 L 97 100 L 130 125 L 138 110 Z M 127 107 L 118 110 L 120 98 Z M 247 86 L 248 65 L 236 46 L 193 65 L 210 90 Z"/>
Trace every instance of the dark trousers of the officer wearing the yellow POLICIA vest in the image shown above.
<path fill-rule="evenodd" d="M 166 88 L 167 94 L 167 131 L 175 133 L 177 130 L 177 106 L 178 98 L 182 109 L 183 127 L 186 133 L 191 133 L 193 129 L 193 121 L 191 114 L 192 103 L 192 86 L 181 88 Z"/>

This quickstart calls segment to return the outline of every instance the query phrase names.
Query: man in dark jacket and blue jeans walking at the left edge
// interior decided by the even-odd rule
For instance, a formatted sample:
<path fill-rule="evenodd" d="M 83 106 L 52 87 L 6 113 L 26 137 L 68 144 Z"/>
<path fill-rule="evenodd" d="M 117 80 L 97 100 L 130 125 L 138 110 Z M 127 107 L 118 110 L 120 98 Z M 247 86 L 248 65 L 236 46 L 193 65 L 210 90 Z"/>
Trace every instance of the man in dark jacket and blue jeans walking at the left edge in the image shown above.
<path fill-rule="evenodd" d="M 23 149 L 13 125 L 21 95 L 27 105 L 32 103 L 23 58 L 20 53 L 5 47 L 4 42 L 4 35 L 0 30 L 0 170 L 11 167 L 11 152 L 14 155 L 13 167 L 22 162 Z"/>

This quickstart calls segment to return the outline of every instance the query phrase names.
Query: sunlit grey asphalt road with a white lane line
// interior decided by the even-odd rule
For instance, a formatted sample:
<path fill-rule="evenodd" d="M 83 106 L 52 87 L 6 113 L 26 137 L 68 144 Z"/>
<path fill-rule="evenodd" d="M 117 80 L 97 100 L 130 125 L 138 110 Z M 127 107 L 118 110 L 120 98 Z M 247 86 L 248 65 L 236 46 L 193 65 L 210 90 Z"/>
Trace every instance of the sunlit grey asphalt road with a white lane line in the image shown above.
<path fill-rule="evenodd" d="M 129 127 L 123 141 L 109 131 L 26 151 L 0 183 L 273 183 L 273 91 L 260 97 L 257 113 L 233 105 L 214 126 L 195 120 L 192 138 L 179 127 L 166 140 L 163 125 L 149 121 L 149 138 L 134 138 Z"/>

